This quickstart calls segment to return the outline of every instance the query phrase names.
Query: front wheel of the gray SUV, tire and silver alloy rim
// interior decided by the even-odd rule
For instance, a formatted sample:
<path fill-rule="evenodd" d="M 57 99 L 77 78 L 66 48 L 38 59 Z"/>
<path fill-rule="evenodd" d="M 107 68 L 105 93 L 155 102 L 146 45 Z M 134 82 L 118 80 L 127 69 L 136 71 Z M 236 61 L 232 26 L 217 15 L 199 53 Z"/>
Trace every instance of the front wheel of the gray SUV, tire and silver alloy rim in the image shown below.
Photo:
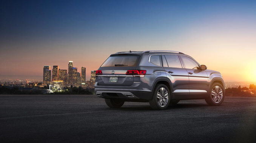
<path fill-rule="evenodd" d="M 225 89 L 219 83 L 214 83 L 210 90 L 208 97 L 205 99 L 208 105 L 217 106 L 221 105 L 225 98 Z"/>

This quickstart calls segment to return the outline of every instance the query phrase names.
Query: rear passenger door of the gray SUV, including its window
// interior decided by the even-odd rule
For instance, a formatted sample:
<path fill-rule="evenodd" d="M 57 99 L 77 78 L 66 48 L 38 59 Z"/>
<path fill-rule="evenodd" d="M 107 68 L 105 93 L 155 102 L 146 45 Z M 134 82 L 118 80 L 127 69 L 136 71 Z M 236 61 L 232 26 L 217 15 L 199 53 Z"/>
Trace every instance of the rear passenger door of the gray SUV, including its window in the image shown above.
<path fill-rule="evenodd" d="M 174 95 L 179 95 L 176 98 L 181 98 L 182 94 L 189 94 L 188 72 L 182 67 L 179 56 L 165 54 L 162 55 L 162 60 L 166 75 L 173 84 L 173 93 Z"/>

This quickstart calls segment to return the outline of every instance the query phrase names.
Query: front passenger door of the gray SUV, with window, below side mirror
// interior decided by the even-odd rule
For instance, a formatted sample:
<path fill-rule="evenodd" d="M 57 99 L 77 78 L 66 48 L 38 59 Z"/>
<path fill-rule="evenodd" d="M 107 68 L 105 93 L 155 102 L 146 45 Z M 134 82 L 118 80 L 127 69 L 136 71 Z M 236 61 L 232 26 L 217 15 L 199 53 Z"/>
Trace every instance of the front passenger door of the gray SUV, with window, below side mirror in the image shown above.
<path fill-rule="evenodd" d="M 206 94 L 208 91 L 208 76 L 207 72 L 201 70 L 200 65 L 188 56 L 180 56 L 189 77 L 190 94 Z"/>

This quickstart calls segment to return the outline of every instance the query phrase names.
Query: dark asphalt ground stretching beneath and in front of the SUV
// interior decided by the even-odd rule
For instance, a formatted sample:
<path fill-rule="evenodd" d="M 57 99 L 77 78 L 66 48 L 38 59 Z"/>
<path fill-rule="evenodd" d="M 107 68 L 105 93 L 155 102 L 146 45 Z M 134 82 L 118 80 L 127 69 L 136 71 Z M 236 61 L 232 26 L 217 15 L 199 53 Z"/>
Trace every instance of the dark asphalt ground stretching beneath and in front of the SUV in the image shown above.
<path fill-rule="evenodd" d="M 0 95 L 0 142 L 256 142 L 256 98 L 218 107 L 181 101 L 167 110 L 94 95 Z"/>

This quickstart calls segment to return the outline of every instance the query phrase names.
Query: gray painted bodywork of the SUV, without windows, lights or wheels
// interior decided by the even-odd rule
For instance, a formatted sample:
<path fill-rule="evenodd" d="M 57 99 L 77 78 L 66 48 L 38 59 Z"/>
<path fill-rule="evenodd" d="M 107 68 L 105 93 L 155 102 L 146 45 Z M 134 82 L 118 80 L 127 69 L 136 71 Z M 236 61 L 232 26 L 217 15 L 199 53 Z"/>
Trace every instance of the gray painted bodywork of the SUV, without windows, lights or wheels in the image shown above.
<path fill-rule="evenodd" d="M 120 93 L 129 92 L 133 93 L 139 99 L 151 99 L 154 87 L 159 81 L 166 81 L 170 84 L 171 91 L 173 92 L 172 98 L 174 99 L 204 99 L 208 95 L 211 84 L 214 81 L 219 81 L 225 87 L 224 81 L 220 72 L 212 70 L 200 70 L 200 69 L 185 69 L 184 63 L 182 68 L 171 68 L 157 66 L 149 62 L 152 55 L 178 55 L 187 56 L 186 54 L 170 53 L 170 52 L 133 52 L 122 54 L 137 54 L 140 55 L 139 62 L 136 67 L 100 67 L 103 75 L 96 76 L 95 93 L 100 92 L 117 92 Z M 118 54 L 112 54 L 118 55 Z M 190 57 L 193 59 L 192 57 Z M 194 60 L 194 59 L 193 59 Z M 196 62 L 196 60 L 194 60 Z M 200 64 L 196 62 L 200 67 Z M 132 77 L 126 76 L 127 70 L 138 69 L 147 70 L 145 77 Z M 114 70 L 115 74 L 111 74 L 110 71 Z M 188 74 L 191 72 L 192 74 Z M 109 83 L 109 76 L 122 76 L 118 77 L 117 83 Z M 193 92 L 189 92 L 193 90 Z M 184 91 L 184 92 L 177 92 Z M 186 92 L 187 91 L 187 92 Z M 196 91 L 196 92 L 195 92 Z M 198 92 L 197 92 L 198 91 Z M 203 92 L 202 92 L 203 91 Z M 205 91 L 205 92 L 204 92 Z M 105 97 L 103 97 L 105 98 Z M 115 98 L 119 98 L 118 96 Z M 122 97 L 123 98 L 123 97 Z M 127 99 L 130 99 L 127 97 Z"/>

